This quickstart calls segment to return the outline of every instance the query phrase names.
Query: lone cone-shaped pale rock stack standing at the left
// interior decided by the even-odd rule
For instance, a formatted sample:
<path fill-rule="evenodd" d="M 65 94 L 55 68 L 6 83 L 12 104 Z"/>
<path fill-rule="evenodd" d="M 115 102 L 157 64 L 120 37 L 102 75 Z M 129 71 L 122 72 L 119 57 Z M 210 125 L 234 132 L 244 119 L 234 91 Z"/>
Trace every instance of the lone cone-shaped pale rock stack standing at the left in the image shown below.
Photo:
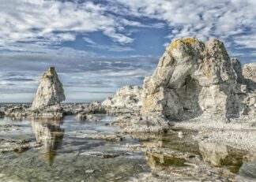
<path fill-rule="evenodd" d="M 65 100 L 62 83 L 58 80 L 54 67 L 50 67 L 40 78 L 40 85 L 32 103 L 32 109 L 59 104 Z"/>

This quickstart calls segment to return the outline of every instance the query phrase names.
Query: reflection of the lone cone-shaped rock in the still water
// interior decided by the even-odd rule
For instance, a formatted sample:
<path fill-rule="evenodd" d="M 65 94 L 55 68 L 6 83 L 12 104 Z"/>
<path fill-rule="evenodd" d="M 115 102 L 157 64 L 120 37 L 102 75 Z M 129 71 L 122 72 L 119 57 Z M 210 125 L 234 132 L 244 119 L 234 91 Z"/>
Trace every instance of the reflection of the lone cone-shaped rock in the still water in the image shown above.
<path fill-rule="evenodd" d="M 43 144 L 42 150 L 40 150 L 44 160 L 46 160 L 49 165 L 52 165 L 57 150 L 62 146 L 62 139 L 65 130 L 61 128 L 61 120 L 53 119 L 38 119 L 32 118 L 32 131 L 36 136 L 36 141 Z"/>

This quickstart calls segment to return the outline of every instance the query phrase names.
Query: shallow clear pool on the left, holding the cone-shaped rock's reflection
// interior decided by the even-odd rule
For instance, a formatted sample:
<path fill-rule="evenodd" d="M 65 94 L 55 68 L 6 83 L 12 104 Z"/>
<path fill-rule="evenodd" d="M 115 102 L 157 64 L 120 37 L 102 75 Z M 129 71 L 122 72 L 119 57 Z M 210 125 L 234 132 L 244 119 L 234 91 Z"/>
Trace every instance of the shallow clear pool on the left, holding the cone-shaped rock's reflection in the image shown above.
<path fill-rule="evenodd" d="M 1 154 L 0 180 L 14 181 L 123 181 L 136 173 L 149 171 L 145 155 L 125 147 L 122 142 L 77 137 L 77 131 L 111 133 L 117 127 L 106 126 L 112 117 L 102 116 L 102 121 L 76 121 L 73 116 L 63 121 L 11 121 L 0 124 L 21 124 L 21 130 L 0 132 L 4 139 L 31 139 L 43 147 L 24 151 L 22 154 Z M 136 139 L 128 139 L 137 143 Z M 117 158 L 99 158 L 88 152 L 122 152 Z"/>

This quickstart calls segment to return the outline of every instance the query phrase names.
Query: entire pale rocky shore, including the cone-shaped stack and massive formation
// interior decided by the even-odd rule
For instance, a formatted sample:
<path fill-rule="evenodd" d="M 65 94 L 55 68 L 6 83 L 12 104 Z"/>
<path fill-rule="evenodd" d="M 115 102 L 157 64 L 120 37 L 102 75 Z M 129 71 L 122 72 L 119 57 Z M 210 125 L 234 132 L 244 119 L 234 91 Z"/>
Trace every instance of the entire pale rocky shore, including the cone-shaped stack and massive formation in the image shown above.
<path fill-rule="evenodd" d="M 126 137 L 140 139 L 141 145 L 127 147 L 145 152 L 152 172 L 141 173 L 129 181 L 248 181 L 237 179 L 231 170 L 219 165 L 220 159 L 230 160 L 229 147 L 241 151 L 239 161 L 235 162 L 256 151 L 255 68 L 254 64 L 242 67 L 238 59 L 230 58 L 224 43 L 217 39 L 206 43 L 194 38 L 177 39 L 167 47 L 152 76 L 145 78 L 143 87 L 121 87 L 114 97 L 102 103 L 61 103 L 65 100 L 64 90 L 57 72 L 50 68 L 41 77 L 32 106 L 1 106 L 0 117 L 19 120 L 76 114 L 77 121 L 100 121 L 96 114 L 108 114 L 115 116 L 115 121 L 107 125 L 117 125 L 119 131 L 110 135 L 77 131 L 76 137 L 108 142 L 120 142 Z M 191 150 L 179 153 L 162 146 L 164 140 L 160 138 L 165 135 L 183 138 L 186 136 L 183 130 L 197 132 L 190 138 L 197 141 L 201 155 Z M 6 143 L 12 141 L 2 141 L 2 145 Z M 19 143 L 10 148 L 18 150 Z M 36 146 L 26 144 L 26 147 Z M 200 156 L 212 165 L 201 162 Z M 165 160 L 186 168 L 166 167 Z"/>

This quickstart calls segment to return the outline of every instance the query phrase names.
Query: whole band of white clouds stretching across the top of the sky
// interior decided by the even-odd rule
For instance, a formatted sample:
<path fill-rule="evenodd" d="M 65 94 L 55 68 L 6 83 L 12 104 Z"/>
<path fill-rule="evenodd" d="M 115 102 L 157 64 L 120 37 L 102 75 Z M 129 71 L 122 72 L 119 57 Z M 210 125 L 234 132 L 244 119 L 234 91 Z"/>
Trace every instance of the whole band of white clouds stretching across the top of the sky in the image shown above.
<path fill-rule="evenodd" d="M 256 42 L 254 0 L 2 0 L 0 9 L 2 46 L 17 41 L 58 44 L 73 41 L 79 33 L 97 31 L 129 44 L 134 37 L 127 26 L 163 26 L 145 24 L 142 18 L 168 24 L 168 39 L 216 36 L 253 48 Z"/>

